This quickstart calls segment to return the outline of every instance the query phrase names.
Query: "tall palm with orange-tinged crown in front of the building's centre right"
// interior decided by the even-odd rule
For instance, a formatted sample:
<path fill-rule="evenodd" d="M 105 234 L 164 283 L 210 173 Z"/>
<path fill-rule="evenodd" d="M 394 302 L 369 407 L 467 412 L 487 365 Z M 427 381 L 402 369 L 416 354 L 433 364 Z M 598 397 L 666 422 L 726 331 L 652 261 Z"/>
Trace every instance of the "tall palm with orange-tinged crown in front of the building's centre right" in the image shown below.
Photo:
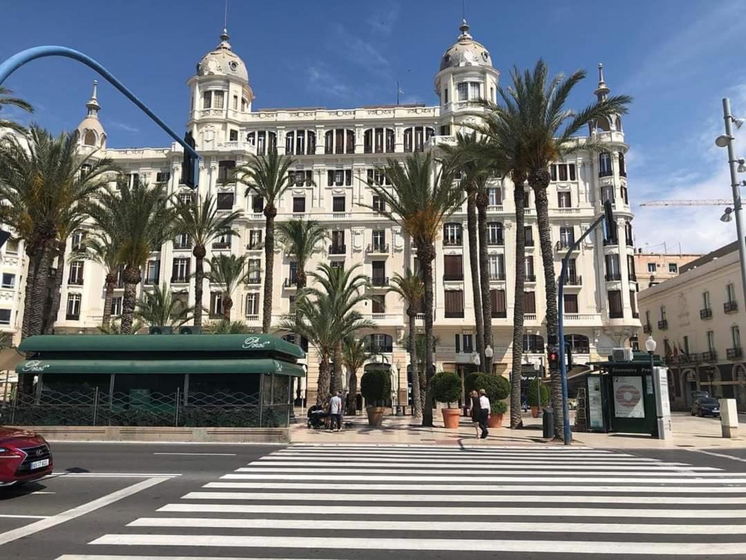
<path fill-rule="evenodd" d="M 433 260 L 435 240 L 440 233 L 444 218 L 461 206 L 463 191 L 454 187 L 454 170 L 447 166 L 433 172 L 433 156 L 424 158 L 419 154 L 410 156 L 402 165 L 389 158 L 382 169 L 391 187 L 372 185 L 373 193 L 385 204 L 381 212 L 389 220 L 401 225 L 410 235 L 417 248 L 417 260 L 424 282 L 424 332 L 425 352 L 425 403 L 422 425 L 433 425 L 433 391 L 430 377 L 433 376 Z M 372 207 L 369 207 L 372 208 Z"/>

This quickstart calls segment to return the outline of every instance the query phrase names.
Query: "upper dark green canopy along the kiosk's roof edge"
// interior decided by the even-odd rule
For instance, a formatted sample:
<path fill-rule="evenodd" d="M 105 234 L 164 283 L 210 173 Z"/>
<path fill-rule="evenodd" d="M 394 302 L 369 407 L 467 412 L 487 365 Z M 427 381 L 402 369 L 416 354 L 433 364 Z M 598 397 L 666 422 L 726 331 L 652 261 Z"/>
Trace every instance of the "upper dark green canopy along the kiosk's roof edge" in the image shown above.
<path fill-rule="evenodd" d="M 306 357 L 293 343 L 269 335 L 37 335 L 20 352 L 276 352 Z"/>

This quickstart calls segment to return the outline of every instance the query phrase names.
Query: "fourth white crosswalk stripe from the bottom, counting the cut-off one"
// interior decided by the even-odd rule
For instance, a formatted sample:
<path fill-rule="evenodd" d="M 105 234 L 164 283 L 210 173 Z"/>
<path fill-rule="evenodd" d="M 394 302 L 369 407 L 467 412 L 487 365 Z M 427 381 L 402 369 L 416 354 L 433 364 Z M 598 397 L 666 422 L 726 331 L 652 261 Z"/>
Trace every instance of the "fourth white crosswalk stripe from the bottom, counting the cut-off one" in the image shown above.
<path fill-rule="evenodd" d="M 181 513 L 257 513 L 256 504 L 169 503 L 157 511 Z M 376 506 L 366 505 L 262 505 L 262 513 L 275 514 L 353 514 L 353 515 L 520 515 L 524 517 L 671 517 L 677 519 L 746 519 L 746 509 L 640 509 L 640 508 L 509 508 L 446 506 Z"/>

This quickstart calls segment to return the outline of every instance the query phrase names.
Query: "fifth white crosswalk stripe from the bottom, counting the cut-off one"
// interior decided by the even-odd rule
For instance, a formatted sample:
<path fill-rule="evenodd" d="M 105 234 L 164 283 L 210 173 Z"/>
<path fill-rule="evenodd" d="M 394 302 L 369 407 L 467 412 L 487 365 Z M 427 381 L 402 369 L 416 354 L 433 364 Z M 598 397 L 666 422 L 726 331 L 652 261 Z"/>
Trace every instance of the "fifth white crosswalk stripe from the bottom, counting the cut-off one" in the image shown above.
<path fill-rule="evenodd" d="M 519 491 L 520 487 L 513 487 Z M 746 489 L 745 489 L 746 490 Z M 546 494 L 480 494 L 484 500 L 490 503 L 504 502 L 546 502 L 546 503 L 655 503 L 668 504 L 709 504 L 715 501 L 718 504 L 746 504 L 744 497 L 718 497 L 716 500 L 711 496 L 703 497 L 671 497 L 671 496 L 548 496 Z M 275 492 L 189 492 L 184 494 L 181 500 L 276 500 L 276 501 L 298 501 L 298 502 L 451 502 L 452 496 L 443 494 L 306 494 L 303 492 L 275 493 Z M 746 525 L 744 526 L 746 531 Z"/>

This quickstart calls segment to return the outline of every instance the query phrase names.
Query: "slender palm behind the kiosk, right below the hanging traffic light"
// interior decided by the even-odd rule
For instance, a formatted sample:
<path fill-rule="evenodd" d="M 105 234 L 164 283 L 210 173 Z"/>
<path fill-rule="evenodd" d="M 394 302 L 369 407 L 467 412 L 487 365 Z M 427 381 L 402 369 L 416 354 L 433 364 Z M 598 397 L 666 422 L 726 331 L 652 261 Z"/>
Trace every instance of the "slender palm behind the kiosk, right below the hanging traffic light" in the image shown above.
<path fill-rule="evenodd" d="M 231 227 L 231 224 L 233 220 L 240 217 L 241 213 L 233 211 L 223 214 L 218 210 L 217 202 L 213 199 L 213 196 L 208 194 L 204 200 L 200 196 L 186 202 L 178 202 L 176 215 L 174 231 L 177 234 L 186 234 L 194 243 L 192 249 L 192 255 L 196 259 L 194 267 L 194 324 L 201 326 L 204 256 L 207 254 L 207 245 L 217 237 L 236 235 L 236 231 Z"/>

